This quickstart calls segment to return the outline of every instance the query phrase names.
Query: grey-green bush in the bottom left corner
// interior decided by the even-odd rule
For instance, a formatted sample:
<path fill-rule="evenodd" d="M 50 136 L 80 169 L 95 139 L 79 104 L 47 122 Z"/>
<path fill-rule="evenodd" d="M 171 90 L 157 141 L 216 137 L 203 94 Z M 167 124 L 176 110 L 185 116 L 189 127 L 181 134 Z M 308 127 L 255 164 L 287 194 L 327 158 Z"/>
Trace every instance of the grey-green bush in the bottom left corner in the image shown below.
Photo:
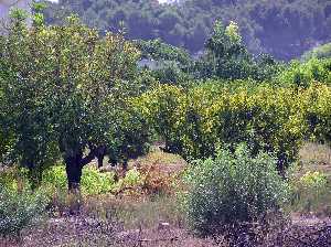
<path fill-rule="evenodd" d="M 15 235 L 36 223 L 46 207 L 42 191 L 12 190 L 0 184 L 0 235 Z"/>

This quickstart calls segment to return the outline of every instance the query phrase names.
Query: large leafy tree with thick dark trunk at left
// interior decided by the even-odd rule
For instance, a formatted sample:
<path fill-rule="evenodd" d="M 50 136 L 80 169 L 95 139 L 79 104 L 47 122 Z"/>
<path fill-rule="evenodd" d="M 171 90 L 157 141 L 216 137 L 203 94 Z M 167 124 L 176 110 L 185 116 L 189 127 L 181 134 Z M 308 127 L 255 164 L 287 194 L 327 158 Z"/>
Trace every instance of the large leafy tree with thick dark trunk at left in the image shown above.
<path fill-rule="evenodd" d="M 147 141 L 148 129 L 130 101 L 140 92 L 139 52 L 121 35 L 100 37 L 76 17 L 63 26 L 45 25 L 38 11 L 32 18 L 29 28 L 14 11 L 0 44 L 1 71 L 9 75 L 0 77 L 1 112 L 6 131 L 14 135 L 12 161 L 38 182 L 62 158 L 68 189 L 79 189 L 82 169 L 92 160 L 128 157 Z"/>

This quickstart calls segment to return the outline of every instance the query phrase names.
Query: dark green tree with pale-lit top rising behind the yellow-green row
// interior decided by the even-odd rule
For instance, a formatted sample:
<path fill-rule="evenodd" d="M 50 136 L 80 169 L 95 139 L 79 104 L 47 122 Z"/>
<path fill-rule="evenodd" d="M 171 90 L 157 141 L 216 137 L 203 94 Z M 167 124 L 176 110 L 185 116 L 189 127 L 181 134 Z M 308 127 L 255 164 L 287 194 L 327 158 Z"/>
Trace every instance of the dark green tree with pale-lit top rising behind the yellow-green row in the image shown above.
<path fill-rule="evenodd" d="M 279 63 L 270 55 L 253 57 L 242 43 L 239 28 L 235 22 L 224 26 L 216 21 L 205 50 L 206 54 L 194 64 L 194 75 L 197 78 L 253 78 L 264 82 L 271 79 L 280 71 Z"/>

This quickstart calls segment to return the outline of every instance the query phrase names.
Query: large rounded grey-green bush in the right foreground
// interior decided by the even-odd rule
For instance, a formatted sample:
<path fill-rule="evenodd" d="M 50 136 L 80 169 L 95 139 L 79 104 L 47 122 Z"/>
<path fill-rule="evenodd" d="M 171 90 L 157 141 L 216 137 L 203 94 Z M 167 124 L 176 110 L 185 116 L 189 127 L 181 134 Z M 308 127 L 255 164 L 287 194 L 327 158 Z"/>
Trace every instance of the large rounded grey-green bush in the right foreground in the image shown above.
<path fill-rule="evenodd" d="M 210 235 L 225 225 L 253 222 L 287 201 L 289 186 L 276 171 L 277 159 L 249 151 L 245 144 L 234 153 L 222 149 L 215 159 L 197 160 L 188 169 L 180 198 L 193 230 Z"/>

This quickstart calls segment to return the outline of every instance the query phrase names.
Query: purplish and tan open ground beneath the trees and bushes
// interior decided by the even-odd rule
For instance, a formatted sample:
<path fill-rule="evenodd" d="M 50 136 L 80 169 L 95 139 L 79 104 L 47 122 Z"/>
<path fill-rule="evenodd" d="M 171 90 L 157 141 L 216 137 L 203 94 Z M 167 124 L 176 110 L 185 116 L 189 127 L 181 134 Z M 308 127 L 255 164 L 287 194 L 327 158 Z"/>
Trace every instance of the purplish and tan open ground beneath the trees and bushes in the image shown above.
<path fill-rule="evenodd" d="M 319 170 L 331 179 L 330 150 L 323 147 L 307 146 L 301 151 L 306 170 Z M 322 160 L 322 161 L 321 161 Z M 320 162 L 321 161 L 321 162 Z M 185 162 L 175 155 L 156 152 L 135 161 L 131 165 L 158 164 L 157 173 L 167 176 L 181 172 Z M 330 176 L 329 176 L 330 175 Z M 154 181 L 153 181 L 154 182 Z M 157 181 L 158 182 L 158 181 Z M 124 208 L 120 217 L 108 217 L 104 208 L 113 207 L 114 197 L 94 197 L 86 203 L 85 211 L 77 216 L 47 217 L 39 225 L 25 229 L 20 239 L 1 239 L 0 247 L 70 247 L 70 246 L 115 246 L 115 247 L 212 247 L 234 246 L 223 237 L 201 238 L 188 232 L 181 224 L 180 215 L 172 212 L 168 201 L 116 200 Z M 110 202 L 110 204 L 109 204 Z M 97 206 L 98 205 L 98 206 Z M 88 207 L 88 208 L 87 208 Z M 97 212 L 98 214 L 90 214 Z M 113 211 L 109 212 L 114 213 Z M 100 216 L 104 215 L 104 216 Z M 249 244 L 248 234 L 241 236 L 242 247 L 331 247 L 331 218 L 316 216 L 314 213 L 293 213 L 281 227 L 265 233 L 258 244 Z M 130 223 L 130 224 L 128 224 Z"/>

